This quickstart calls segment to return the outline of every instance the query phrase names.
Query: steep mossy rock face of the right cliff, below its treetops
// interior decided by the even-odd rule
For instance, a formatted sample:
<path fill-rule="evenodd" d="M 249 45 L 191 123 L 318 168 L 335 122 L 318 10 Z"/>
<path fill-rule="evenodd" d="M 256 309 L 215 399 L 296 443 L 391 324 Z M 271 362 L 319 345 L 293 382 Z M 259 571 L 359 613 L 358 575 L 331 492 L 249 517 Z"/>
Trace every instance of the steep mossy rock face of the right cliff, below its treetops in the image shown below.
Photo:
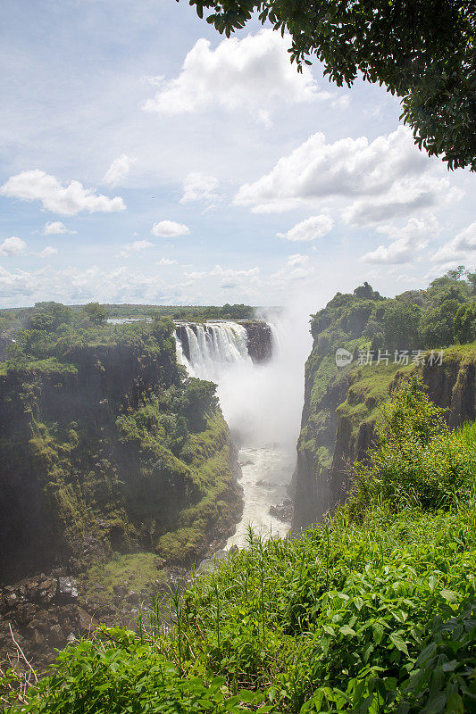
<path fill-rule="evenodd" d="M 456 428 L 476 419 L 476 345 L 448 348 L 441 365 L 373 365 L 337 368 L 334 354 L 319 354 L 317 340 L 305 369 L 305 406 L 294 477 L 294 532 L 309 527 L 350 487 L 349 467 L 362 461 L 380 419 L 379 405 L 397 381 L 422 374 L 430 399 L 447 408 Z"/>

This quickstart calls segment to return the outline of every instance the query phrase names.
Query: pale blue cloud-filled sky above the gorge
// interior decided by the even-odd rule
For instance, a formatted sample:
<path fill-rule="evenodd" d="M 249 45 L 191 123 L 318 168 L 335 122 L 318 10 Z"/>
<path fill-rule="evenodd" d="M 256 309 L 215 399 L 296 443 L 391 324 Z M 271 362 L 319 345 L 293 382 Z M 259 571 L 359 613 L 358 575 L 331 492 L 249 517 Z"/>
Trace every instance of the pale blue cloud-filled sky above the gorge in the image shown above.
<path fill-rule="evenodd" d="M 0 44 L 0 306 L 282 304 L 476 266 L 474 177 L 385 89 L 297 75 L 183 0 L 17 2 Z"/>

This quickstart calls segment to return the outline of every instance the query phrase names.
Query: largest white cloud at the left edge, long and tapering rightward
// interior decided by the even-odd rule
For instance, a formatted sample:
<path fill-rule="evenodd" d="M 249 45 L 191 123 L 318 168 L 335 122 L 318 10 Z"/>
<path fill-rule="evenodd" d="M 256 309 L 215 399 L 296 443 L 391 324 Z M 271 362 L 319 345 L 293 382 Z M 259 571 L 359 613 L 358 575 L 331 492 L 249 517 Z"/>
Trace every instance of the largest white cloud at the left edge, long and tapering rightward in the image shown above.
<path fill-rule="evenodd" d="M 90 213 L 123 211 L 125 204 L 120 196 L 108 198 L 97 195 L 79 181 L 71 181 L 63 187 L 58 179 L 45 171 L 21 171 L 12 176 L 0 189 L 0 193 L 21 201 L 41 201 L 47 211 L 73 216 L 79 211 Z"/>

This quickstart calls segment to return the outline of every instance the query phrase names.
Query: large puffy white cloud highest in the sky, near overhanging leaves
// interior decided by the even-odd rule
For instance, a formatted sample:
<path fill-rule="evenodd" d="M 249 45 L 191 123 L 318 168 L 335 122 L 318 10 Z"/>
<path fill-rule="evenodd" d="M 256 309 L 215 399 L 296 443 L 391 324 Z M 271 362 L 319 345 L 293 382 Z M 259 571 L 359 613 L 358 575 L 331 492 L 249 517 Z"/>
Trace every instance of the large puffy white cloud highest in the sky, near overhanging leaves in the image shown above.
<path fill-rule="evenodd" d="M 268 110 L 274 99 L 309 102 L 320 94 L 309 68 L 299 74 L 289 62 L 289 46 L 289 36 L 272 29 L 224 39 L 215 50 L 202 37 L 185 58 L 180 75 L 163 81 L 144 109 L 174 115 L 213 105 L 229 111 L 238 106 Z M 261 117 L 269 121 L 269 116 Z"/>

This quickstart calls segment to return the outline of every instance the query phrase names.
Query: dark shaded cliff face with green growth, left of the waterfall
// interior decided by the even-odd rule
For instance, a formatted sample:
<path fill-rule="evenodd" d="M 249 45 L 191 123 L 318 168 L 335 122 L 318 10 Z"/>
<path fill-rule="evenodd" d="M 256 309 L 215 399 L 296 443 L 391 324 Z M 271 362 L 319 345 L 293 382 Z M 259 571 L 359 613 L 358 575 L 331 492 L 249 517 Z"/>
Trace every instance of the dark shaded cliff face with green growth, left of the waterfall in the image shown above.
<path fill-rule="evenodd" d="M 0 375 L 0 580 L 113 550 L 194 560 L 232 527 L 228 428 L 212 409 L 187 429 L 184 388 L 172 340 L 75 347 Z"/>

